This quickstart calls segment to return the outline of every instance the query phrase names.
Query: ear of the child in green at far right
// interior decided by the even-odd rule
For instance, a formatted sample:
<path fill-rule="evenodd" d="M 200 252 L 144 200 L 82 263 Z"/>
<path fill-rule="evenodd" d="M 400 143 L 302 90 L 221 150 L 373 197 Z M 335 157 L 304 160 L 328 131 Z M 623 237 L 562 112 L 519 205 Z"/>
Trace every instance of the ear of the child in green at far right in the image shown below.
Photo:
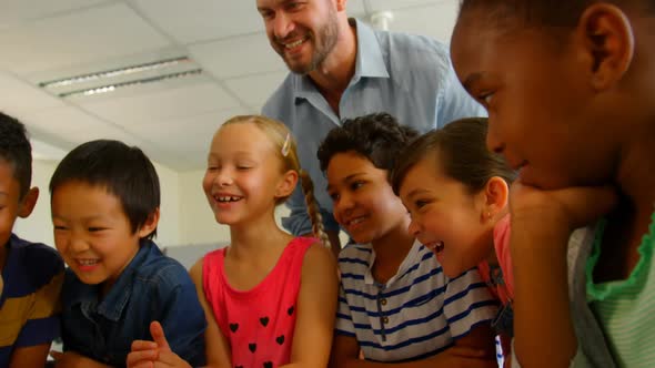
<path fill-rule="evenodd" d="M 608 2 L 590 6 L 578 21 L 585 60 L 590 60 L 591 84 L 596 91 L 615 85 L 628 70 L 635 52 L 629 19 Z"/>

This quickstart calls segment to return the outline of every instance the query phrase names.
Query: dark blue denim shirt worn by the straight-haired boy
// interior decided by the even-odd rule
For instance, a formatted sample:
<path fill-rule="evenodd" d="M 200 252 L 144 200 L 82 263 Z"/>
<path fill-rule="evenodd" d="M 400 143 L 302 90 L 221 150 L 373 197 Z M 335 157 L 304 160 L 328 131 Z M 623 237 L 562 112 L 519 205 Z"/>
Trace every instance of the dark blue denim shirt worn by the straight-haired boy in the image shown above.
<path fill-rule="evenodd" d="M 141 247 L 102 298 L 67 269 L 62 294 L 64 350 L 124 367 L 133 340 L 152 340 L 150 323 L 162 324 L 171 349 L 192 366 L 204 365 L 206 320 L 187 269 L 153 242 Z"/>

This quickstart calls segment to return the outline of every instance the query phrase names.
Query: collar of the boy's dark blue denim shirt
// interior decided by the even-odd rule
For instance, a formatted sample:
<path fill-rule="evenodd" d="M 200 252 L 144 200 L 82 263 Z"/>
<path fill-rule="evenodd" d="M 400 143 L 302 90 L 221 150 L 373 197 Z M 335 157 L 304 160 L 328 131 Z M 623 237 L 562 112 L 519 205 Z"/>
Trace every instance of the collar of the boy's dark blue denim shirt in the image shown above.
<path fill-rule="evenodd" d="M 90 309 L 95 309 L 98 315 L 112 321 L 119 321 L 132 295 L 131 285 L 137 270 L 145 260 L 157 254 L 159 254 L 157 245 L 152 241 L 142 239 L 139 252 L 137 252 L 137 255 L 132 258 L 128 267 L 123 269 L 115 284 L 113 284 L 100 304 L 98 304 L 100 299 L 100 286 L 87 285 L 78 279 L 70 307 L 81 304 L 84 314 L 88 314 Z M 95 305 L 98 305 L 97 308 L 93 308 Z"/>

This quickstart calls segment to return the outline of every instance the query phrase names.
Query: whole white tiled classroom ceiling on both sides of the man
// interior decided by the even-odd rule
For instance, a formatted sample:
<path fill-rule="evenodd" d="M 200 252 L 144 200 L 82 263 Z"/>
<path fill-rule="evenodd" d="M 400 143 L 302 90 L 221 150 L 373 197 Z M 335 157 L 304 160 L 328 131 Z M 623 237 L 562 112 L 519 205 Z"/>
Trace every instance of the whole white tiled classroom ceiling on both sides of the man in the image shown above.
<path fill-rule="evenodd" d="M 347 2 L 351 17 L 371 22 L 391 11 L 390 30 L 442 41 L 456 8 L 457 0 Z M 26 123 L 36 157 L 58 160 L 105 137 L 180 172 L 203 168 L 215 129 L 258 113 L 286 74 L 255 0 L 1 0 L 0 50 L 0 111 Z M 154 68 L 161 60 L 169 63 Z M 41 85 L 115 70 L 122 73 Z M 124 86 L 75 93 L 110 85 Z"/>

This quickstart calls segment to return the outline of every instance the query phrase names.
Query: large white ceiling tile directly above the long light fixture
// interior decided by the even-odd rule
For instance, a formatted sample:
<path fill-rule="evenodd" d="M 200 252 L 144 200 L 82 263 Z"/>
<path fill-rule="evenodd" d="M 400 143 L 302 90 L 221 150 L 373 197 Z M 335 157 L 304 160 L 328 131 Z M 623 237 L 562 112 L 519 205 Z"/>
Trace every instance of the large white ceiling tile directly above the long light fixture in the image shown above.
<path fill-rule="evenodd" d="M 168 40 L 133 10 L 117 3 L 0 32 L 0 68 L 20 75 L 167 45 Z"/>

